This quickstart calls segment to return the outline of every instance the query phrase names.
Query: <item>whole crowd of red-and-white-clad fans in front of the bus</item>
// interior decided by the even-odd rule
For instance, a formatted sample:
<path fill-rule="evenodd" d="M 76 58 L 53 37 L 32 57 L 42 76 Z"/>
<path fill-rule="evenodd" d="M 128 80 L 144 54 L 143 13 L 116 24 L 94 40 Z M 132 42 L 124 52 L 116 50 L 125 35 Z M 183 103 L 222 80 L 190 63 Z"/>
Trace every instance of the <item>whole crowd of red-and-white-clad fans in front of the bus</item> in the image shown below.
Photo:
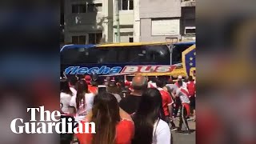
<path fill-rule="evenodd" d="M 185 81 L 178 76 L 177 82 L 142 75 L 120 79 L 61 78 L 62 118 L 96 125 L 96 134 L 62 134 L 63 144 L 74 136 L 80 144 L 170 144 L 170 130 L 190 134 L 187 120 L 192 116 L 195 121 L 196 94 L 191 76 Z M 174 118 L 179 118 L 178 127 Z"/>

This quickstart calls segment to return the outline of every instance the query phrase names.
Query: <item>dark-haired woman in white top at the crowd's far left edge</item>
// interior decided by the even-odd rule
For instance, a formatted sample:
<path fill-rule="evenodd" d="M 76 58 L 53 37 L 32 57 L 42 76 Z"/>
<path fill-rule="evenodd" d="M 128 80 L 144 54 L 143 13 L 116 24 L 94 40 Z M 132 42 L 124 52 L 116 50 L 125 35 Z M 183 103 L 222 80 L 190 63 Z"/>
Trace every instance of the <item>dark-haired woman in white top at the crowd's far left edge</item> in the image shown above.
<path fill-rule="evenodd" d="M 74 96 L 72 91 L 70 90 L 69 82 L 67 80 L 61 81 L 61 94 L 60 94 L 60 105 L 62 108 L 62 112 L 68 114 L 70 107 L 70 100 Z"/>

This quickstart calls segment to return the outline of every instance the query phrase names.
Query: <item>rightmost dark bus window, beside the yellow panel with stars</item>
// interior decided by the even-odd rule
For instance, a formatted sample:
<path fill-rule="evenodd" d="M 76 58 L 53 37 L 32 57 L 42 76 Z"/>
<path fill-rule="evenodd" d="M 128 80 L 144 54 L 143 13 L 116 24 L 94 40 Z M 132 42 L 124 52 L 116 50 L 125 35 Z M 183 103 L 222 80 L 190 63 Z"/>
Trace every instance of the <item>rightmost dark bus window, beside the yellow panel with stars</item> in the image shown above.
<path fill-rule="evenodd" d="M 192 46 L 192 44 L 189 45 L 174 45 L 174 50 L 172 53 L 172 64 L 178 64 L 182 62 L 182 51 L 186 50 Z"/>

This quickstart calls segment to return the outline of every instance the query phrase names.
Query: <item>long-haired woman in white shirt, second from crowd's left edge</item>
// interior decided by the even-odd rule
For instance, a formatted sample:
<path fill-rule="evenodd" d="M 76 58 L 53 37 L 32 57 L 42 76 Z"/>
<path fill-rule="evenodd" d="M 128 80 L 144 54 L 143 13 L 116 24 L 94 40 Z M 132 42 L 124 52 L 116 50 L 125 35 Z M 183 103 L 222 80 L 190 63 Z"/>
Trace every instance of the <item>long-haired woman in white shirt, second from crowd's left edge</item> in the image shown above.
<path fill-rule="evenodd" d="M 77 122 L 80 122 L 92 109 L 94 94 L 89 92 L 88 85 L 84 80 L 79 80 L 76 84 L 76 88 L 77 94 L 71 98 L 70 106 L 74 106 L 76 113 L 74 118 Z"/>

